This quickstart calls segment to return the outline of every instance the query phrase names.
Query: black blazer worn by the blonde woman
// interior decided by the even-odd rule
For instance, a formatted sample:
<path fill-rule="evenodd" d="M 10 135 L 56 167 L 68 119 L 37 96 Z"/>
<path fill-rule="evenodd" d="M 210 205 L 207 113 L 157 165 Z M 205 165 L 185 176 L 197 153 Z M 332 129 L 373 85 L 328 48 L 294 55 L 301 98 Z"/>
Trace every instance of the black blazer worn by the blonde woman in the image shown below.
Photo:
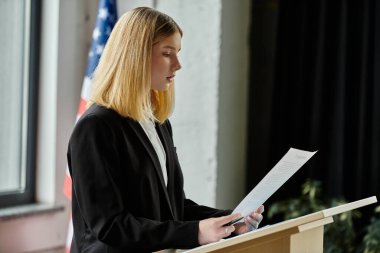
<path fill-rule="evenodd" d="M 168 185 L 140 124 L 92 105 L 77 122 L 67 159 L 72 177 L 71 252 L 151 252 L 198 246 L 200 219 L 227 215 L 186 199 L 169 121 L 156 124 Z"/>

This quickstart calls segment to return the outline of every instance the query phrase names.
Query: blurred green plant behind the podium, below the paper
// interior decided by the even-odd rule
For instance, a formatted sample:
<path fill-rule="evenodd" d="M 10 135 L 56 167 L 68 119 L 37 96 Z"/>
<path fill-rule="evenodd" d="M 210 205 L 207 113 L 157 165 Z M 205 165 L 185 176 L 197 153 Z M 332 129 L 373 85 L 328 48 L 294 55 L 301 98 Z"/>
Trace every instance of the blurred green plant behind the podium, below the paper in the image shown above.
<path fill-rule="evenodd" d="M 297 198 L 290 198 L 272 204 L 268 210 L 268 218 L 281 216 L 288 220 L 312 212 L 320 211 L 328 207 L 347 203 L 344 199 L 331 198 L 321 200 L 322 183 L 308 179 L 302 185 L 302 194 Z M 350 253 L 355 250 L 356 233 L 353 219 L 360 217 L 357 210 L 345 212 L 334 217 L 334 222 L 325 226 L 324 252 L 326 253 Z M 377 228 L 378 229 L 378 228 Z M 372 253 L 372 252 L 368 252 Z"/>

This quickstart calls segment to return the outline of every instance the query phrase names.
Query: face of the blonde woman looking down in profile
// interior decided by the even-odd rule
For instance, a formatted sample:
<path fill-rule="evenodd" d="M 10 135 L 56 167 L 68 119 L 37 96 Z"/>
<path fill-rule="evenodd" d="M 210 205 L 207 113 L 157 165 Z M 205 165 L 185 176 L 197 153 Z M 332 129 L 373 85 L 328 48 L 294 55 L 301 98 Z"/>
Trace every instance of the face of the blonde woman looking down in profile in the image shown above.
<path fill-rule="evenodd" d="M 181 50 L 181 35 L 173 35 L 155 43 L 152 48 L 152 89 L 167 90 L 173 83 L 176 71 L 181 68 L 178 52 Z"/>

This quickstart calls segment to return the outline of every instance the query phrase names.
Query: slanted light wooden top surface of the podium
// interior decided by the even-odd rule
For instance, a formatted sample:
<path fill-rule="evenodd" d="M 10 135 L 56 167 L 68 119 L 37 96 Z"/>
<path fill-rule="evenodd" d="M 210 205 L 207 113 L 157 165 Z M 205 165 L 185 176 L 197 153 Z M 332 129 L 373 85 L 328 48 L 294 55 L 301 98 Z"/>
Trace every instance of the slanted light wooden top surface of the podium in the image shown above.
<path fill-rule="evenodd" d="M 228 247 L 233 244 L 242 243 L 245 241 L 253 240 L 259 237 L 264 237 L 271 235 L 273 233 L 281 232 L 287 229 L 296 228 L 298 226 L 312 223 L 312 222 L 318 222 L 321 220 L 326 220 L 326 224 L 329 223 L 326 218 L 329 218 L 333 215 L 337 215 L 340 213 L 348 212 L 350 210 L 360 208 L 366 205 L 370 205 L 377 202 L 376 196 L 372 196 L 369 198 L 357 200 L 354 202 L 342 204 L 339 206 L 331 207 L 325 210 L 321 210 L 318 212 L 314 212 L 308 215 L 304 215 L 298 218 L 286 220 L 283 222 L 279 222 L 273 225 L 264 226 L 262 228 L 256 229 L 252 232 L 248 232 L 246 234 L 238 235 L 233 238 L 229 238 L 226 240 L 221 240 L 216 243 L 211 243 L 207 245 L 203 245 L 200 247 L 197 247 L 195 249 L 186 250 L 182 252 L 188 252 L 188 253 L 196 253 L 196 252 L 209 252 L 217 249 L 222 249 L 224 247 Z M 332 218 L 330 218 L 332 219 Z"/>

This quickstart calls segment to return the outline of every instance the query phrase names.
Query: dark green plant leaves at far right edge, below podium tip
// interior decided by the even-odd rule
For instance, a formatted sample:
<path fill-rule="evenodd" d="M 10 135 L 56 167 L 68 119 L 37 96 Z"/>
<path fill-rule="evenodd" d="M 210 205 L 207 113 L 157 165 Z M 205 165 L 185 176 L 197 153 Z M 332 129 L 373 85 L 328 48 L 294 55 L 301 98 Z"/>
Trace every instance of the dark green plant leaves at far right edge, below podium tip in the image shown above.
<path fill-rule="evenodd" d="M 371 218 L 371 223 L 366 227 L 366 234 L 363 238 L 363 252 L 380 252 L 380 206 L 375 208 L 376 216 Z"/>

